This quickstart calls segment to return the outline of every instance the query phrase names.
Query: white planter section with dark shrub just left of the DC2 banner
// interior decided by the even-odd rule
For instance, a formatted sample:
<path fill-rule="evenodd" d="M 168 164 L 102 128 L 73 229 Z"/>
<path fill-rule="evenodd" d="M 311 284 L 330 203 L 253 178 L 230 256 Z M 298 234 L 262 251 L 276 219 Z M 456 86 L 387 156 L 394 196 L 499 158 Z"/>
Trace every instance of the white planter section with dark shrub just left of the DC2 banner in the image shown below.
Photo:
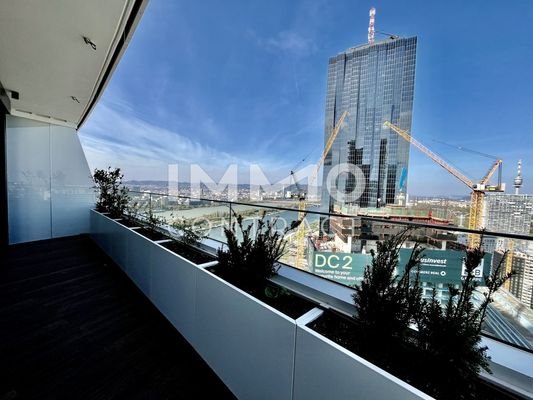
<path fill-rule="evenodd" d="M 297 320 L 314 303 L 269 281 L 291 227 L 234 215 L 218 264 L 197 269 L 191 344 L 237 398 L 292 399 Z"/>

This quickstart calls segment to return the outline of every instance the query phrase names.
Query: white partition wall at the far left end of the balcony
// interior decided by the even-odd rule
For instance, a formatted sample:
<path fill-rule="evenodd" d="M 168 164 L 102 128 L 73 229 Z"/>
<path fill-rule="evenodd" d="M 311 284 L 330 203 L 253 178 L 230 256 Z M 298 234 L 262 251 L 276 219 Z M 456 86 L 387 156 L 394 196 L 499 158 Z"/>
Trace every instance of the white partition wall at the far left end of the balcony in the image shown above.
<path fill-rule="evenodd" d="M 75 129 L 7 116 L 9 243 L 89 232 L 91 171 Z"/>

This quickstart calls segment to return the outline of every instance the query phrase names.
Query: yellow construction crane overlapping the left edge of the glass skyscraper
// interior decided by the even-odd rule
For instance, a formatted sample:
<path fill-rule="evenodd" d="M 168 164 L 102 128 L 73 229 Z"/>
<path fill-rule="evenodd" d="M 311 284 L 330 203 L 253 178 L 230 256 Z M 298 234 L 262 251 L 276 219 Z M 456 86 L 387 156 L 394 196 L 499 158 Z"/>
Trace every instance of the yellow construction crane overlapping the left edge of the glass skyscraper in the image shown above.
<path fill-rule="evenodd" d="M 337 123 L 335 124 L 333 130 L 331 131 L 328 140 L 326 141 L 326 145 L 324 146 L 324 151 L 322 152 L 322 156 L 318 160 L 317 167 L 316 167 L 316 173 L 311 177 L 311 180 L 308 182 L 308 186 L 310 186 L 314 182 L 314 178 L 318 176 L 318 171 L 320 170 L 320 167 L 324 163 L 324 160 L 326 159 L 326 156 L 328 155 L 329 151 L 331 150 L 331 146 L 333 146 L 333 142 L 337 138 L 337 135 L 340 132 L 340 129 L 342 127 L 342 124 L 344 122 L 344 119 L 348 116 L 348 111 L 344 111 L 340 118 L 338 119 Z M 305 218 L 305 210 L 306 210 L 306 196 L 307 194 L 301 189 L 300 185 L 298 185 L 298 181 L 296 180 L 296 176 L 294 175 L 294 171 L 291 171 L 291 177 L 294 181 L 294 185 L 296 186 L 297 193 L 293 195 L 292 197 L 295 197 L 298 199 L 298 221 L 300 224 L 298 225 L 298 230 L 296 231 L 296 267 L 302 268 L 302 261 L 304 257 L 304 239 L 305 239 L 305 226 L 303 223 L 303 219 Z"/>

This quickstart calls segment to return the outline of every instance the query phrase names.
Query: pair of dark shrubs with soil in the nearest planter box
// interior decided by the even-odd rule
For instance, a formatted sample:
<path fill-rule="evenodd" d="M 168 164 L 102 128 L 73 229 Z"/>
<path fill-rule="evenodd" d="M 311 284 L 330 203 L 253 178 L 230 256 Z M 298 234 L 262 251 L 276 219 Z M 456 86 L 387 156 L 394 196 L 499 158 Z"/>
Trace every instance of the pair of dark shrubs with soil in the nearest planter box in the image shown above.
<path fill-rule="evenodd" d="M 416 244 L 405 270 L 397 274 L 399 249 L 410 229 L 378 243 L 372 262 L 353 296 L 356 315 L 331 312 L 309 326 L 403 381 L 437 399 L 475 398 L 481 369 L 489 371 L 481 326 L 493 294 L 513 273 L 502 262 L 485 277 L 484 301 L 474 303 L 475 269 L 485 253 L 481 244 L 466 250 L 460 288 L 449 286 L 441 304 L 433 292 L 422 298 L 419 280 L 423 251 Z M 481 242 L 480 242 L 481 243 Z"/>

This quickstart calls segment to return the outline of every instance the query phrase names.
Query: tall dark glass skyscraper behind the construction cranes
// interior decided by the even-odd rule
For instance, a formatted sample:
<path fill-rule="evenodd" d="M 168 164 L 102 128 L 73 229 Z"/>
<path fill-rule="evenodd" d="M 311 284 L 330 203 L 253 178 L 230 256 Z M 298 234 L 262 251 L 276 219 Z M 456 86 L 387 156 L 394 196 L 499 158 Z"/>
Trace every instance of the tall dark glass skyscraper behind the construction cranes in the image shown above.
<path fill-rule="evenodd" d="M 329 211 L 334 205 L 399 204 L 405 196 L 409 143 L 383 123 L 411 131 L 416 42 L 416 37 L 391 38 L 330 58 L 324 143 L 343 112 L 349 114 L 324 160 L 322 205 Z M 357 166 L 362 174 L 341 174 L 328 190 L 328 174 L 343 164 Z M 365 181 L 362 192 L 358 178 Z M 339 191 L 345 193 L 341 201 L 335 199 Z"/>

